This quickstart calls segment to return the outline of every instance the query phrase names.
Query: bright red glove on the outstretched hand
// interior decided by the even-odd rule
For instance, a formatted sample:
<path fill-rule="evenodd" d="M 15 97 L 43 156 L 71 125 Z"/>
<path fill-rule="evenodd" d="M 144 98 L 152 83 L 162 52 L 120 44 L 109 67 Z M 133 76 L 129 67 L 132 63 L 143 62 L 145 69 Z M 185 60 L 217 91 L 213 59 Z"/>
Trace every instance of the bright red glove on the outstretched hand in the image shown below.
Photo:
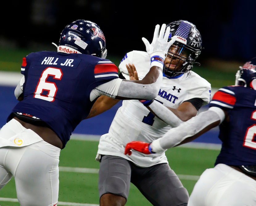
<path fill-rule="evenodd" d="M 131 150 L 136 150 L 136 151 L 144 153 L 144 154 L 152 154 L 152 153 L 154 153 L 151 150 L 150 143 L 141 142 L 141 141 L 128 142 L 126 144 L 124 154 L 131 155 L 132 154 Z"/>

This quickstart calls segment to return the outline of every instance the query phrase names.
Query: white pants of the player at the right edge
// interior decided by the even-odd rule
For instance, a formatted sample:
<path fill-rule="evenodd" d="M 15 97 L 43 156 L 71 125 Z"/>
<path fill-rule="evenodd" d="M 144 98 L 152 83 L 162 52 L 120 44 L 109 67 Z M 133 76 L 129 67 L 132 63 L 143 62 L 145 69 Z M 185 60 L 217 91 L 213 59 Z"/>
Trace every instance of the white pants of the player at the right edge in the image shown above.
<path fill-rule="evenodd" d="M 188 206 L 255 206 L 256 181 L 224 164 L 206 169 L 196 182 Z"/>

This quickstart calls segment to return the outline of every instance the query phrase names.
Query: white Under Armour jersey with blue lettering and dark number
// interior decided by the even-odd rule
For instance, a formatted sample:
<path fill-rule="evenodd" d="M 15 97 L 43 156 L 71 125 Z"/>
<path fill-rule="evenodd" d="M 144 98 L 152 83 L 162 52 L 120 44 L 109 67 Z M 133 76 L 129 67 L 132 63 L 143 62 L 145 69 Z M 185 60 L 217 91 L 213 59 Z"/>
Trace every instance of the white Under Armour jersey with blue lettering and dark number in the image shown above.
<path fill-rule="evenodd" d="M 135 65 L 139 79 L 143 79 L 150 68 L 150 57 L 147 52 L 128 52 L 119 65 L 120 72 L 126 79 L 129 79 L 125 66 L 128 63 Z M 206 105 L 210 101 L 210 90 L 211 84 L 207 80 L 189 71 L 176 78 L 163 76 L 155 99 L 166 107 L 175 109 L 184 101 L 193 98 L 203 99 L 203 105 Z M 141 167 L 168 163 L 164 152 L 147 155 L 133 151 L 132 155 L 128 156 L 124 154 L 124 149 L 131 141 L 152 142 L 162 137 L 170 128 L 171 126 L 154 116 L 138 100 L 123 100 L 110 125 L 109 133 L 103 134 L 100 138 L 97 153 L 123 157 Z"/>

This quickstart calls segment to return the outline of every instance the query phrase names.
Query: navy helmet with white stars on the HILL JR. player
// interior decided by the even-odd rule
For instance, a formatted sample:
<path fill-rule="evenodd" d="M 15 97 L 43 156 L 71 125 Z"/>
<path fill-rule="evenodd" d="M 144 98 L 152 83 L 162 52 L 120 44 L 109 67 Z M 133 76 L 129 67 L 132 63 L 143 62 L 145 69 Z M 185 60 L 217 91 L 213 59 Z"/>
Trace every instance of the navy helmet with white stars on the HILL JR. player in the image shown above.
<path fill-rule="evenodd" d="M 92 21 L 79 19 L 61 32 L 58 52 L 89 54 L 105 59 L 106 41 L 100 27 Z"/>

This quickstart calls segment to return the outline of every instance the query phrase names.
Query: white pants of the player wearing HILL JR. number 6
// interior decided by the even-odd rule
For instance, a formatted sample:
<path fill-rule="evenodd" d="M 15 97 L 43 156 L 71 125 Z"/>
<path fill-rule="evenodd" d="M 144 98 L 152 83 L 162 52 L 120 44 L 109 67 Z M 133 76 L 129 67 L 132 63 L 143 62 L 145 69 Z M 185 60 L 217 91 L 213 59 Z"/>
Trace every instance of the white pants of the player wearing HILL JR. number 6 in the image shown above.
<path fill-rule="evenodd" d="M 0 145 L 0 189 L 14 177 L 21 206 L 56 206 L 60 148 L 38 139 L 34 131 L 26 129 L 15 119 L 2 127 L 0 142 L 6 145 L 8 140 L 13 140 L 10 145 L 16 141 L 19 146 Z M 35 143 L 31 143 L 33 140 Z M 29 143 L 20 146 L 24 142 Z"/>

